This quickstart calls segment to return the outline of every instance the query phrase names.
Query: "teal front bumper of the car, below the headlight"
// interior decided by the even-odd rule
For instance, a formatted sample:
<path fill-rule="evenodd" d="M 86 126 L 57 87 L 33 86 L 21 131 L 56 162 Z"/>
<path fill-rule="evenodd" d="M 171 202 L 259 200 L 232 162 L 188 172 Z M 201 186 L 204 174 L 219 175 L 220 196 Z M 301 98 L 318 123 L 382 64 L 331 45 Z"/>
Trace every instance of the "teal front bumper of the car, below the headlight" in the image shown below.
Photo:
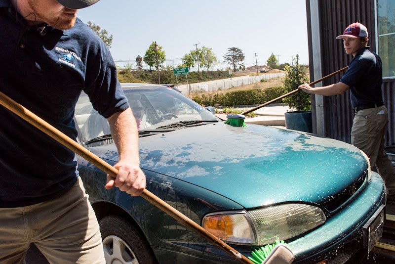
<path fill-rule="evenodd" d="M 288 247 L 295 254 L 293 263 L 316 264 L 327 260 L 332 264 L 364 258 L 368 252 L 363 247 L 362 227 L 385 204 L 385 198 L 384 181 L 381 176 L 372 172 L 370 182 L 358 192 L 353 201 L 316 230 L 288 242 Z M 251 248 L 233 247 L 244 256 L 251 256 Z M 235 262 L 211 245 L 207 246 L 203 254 L 205 263 L 211 263 L 211 260 L 213 263 Z M 218 258 L 219 256 L 221 257 Z"/>

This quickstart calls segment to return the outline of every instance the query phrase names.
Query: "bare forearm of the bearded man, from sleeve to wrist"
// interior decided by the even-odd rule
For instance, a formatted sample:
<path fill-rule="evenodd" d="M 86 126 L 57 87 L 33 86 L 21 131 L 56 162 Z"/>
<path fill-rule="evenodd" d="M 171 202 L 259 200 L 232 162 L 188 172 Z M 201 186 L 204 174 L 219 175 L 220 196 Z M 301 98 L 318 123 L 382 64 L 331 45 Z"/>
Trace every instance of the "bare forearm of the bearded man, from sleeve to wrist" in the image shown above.
<path fill-rule="evenodd" d="M 108 118 L 108 121 L 118 148 L 119 160 L 128 160 L 139 164 L 138 131 L 131 109 L 115 113 Z"/>

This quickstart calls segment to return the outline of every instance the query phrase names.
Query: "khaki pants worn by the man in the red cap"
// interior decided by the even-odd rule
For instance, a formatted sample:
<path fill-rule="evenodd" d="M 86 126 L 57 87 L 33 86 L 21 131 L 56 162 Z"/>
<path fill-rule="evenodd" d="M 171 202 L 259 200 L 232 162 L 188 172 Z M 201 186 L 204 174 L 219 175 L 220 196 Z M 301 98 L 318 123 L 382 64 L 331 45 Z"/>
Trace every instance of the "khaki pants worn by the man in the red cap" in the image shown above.
<path fill-rule="evenodd" d="M 395 171 L 384 150 L 384 135 L 387 130 L 388 113 L 383 106 L 363 109 L 354 117 L 351 143 L 366 153 L 372 169 L 383 177 L 388 194 L 395 194 Z"/>

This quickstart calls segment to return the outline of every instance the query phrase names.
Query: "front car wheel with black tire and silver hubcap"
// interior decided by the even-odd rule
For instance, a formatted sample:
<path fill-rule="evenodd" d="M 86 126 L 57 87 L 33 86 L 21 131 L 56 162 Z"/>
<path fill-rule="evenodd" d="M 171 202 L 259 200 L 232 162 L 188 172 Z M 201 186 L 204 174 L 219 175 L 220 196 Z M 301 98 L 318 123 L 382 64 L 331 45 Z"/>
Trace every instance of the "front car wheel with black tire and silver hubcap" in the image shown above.
<path fill-rule="evenodd" d="M 107 216 L 99 225 L 106 264 L 158 263 L 144 235 L 128 221 Z"/>

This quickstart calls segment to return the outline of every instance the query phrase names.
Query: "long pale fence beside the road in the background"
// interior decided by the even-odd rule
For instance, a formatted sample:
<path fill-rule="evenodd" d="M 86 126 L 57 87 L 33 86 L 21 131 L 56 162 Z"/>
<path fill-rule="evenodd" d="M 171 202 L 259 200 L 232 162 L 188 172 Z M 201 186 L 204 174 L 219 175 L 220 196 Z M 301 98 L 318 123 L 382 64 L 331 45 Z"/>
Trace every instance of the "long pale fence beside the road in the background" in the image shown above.
<path fill-rule="evenodd" d="M 219 89 L 228 89 L 228 88 L 234 88 L 243 85 L 250 85 L 250 84 L 258 83 L 262 79 L 268 80 L 281 76 L 284 76 L 284 73 L 270 73 L 270 74 L 263 74 L 259 76 L 240 76 L 240 77 L 224 79 L 224 80 L 188 84 L 188 86 L 180 85 L 178 86 L 178 89 L 181 90 L 183 93 L 190 93 L 190 92 L 196 92 L 202 90 L 214 91 Z"/>

